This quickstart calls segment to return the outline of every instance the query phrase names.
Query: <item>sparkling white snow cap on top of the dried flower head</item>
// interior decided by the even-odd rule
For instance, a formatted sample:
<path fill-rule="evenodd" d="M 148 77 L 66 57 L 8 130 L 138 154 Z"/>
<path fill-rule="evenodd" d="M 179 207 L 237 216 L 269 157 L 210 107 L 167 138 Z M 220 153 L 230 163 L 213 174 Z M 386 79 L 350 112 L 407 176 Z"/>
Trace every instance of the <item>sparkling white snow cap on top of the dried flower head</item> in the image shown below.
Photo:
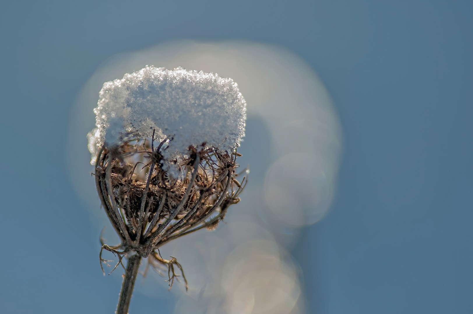
<path fill-rule="evenodd" d="M 88 134 L 95 163 L 103 144 L 120 145 L 130 135 L 170 139 L 164 162 L 188 154 L 190 145 L 231 152 L 245 136 L 246 102 L 231 78 L 214 73 L 146 66 L 106 82 L 100 91 L 96 126 Z"/>

